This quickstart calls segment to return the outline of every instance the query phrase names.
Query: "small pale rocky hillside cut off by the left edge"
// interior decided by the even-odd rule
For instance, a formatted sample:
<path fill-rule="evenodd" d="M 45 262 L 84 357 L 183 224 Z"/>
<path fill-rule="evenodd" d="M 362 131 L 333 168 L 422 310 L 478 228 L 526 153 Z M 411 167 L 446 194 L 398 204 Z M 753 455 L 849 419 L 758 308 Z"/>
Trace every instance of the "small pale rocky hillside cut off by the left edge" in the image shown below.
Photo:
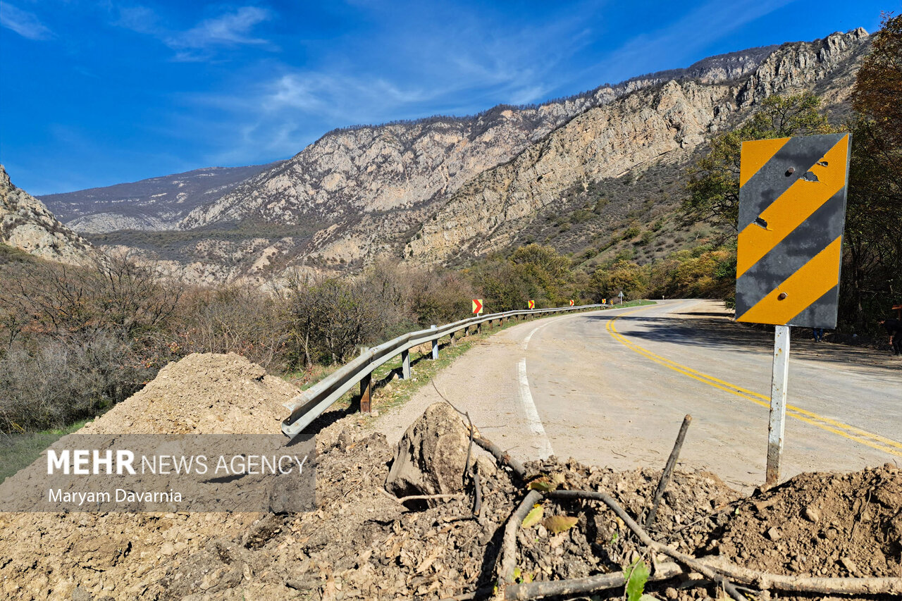
<path fill-rule="evenodd" d="M 16 188 L 0 165 L 0 242 L 28 254 L 68 264 L 87 264 L 91 245 L 31 194 Z"/>

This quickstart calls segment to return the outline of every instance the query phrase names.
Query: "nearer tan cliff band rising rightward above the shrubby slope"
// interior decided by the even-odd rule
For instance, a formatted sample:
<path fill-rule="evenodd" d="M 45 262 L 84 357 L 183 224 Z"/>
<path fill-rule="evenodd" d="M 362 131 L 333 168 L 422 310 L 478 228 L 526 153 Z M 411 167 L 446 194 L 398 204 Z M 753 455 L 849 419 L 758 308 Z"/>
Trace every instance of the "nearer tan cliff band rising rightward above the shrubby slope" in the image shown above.
<path fill-rule="evenodd" d="M 832 76 L 852 72 L 866 41 L 859 29 L 785 44 L 738 87 L 670 80 L 592 108 L 514 161 L 468 182 L 428 218 L 404 255 L 436 263 L 461 252 L 498 250 L 575 183 L 616 177 L 643 163 L 685 161 L 707 136 L 748 116 L 751 106 L 772 94 L 821 84 L 826 97 L 841 99 L 851 79 Z"/>

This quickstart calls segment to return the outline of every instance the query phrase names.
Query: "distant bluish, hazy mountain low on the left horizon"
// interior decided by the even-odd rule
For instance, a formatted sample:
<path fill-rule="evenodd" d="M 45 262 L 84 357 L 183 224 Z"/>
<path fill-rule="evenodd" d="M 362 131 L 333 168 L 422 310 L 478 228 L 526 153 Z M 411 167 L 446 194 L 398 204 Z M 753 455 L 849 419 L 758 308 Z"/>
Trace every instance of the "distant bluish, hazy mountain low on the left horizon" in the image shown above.
<path fill-rule="evenodd" d="M 207 167 L 40 199 L 66 225 L 85 234 L 175 229 L 191 209 L 216 201 L 242 181 L 278 164 Z"/>

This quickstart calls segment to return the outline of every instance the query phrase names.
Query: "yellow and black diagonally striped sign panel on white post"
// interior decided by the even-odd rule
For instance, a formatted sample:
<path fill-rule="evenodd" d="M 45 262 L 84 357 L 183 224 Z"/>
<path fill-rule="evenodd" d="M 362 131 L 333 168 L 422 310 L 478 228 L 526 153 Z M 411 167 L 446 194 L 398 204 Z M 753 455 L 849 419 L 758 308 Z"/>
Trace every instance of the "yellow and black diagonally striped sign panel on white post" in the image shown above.
<path fill-rule="evenodd" d="M 742 143 L 736 320 L 835 328 L 850 134 Z"/>

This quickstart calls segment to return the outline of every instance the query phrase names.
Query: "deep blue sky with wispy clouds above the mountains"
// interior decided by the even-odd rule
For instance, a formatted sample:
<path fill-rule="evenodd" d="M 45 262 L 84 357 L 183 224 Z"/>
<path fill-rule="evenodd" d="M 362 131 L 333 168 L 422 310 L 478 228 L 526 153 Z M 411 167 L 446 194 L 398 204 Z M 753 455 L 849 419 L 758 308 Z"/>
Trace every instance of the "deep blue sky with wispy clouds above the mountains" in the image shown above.
<path fill-rule="evenodd" d="M 48 194 L 879 26 L 896 2 L 0 0 L 0 162 Z"/>

